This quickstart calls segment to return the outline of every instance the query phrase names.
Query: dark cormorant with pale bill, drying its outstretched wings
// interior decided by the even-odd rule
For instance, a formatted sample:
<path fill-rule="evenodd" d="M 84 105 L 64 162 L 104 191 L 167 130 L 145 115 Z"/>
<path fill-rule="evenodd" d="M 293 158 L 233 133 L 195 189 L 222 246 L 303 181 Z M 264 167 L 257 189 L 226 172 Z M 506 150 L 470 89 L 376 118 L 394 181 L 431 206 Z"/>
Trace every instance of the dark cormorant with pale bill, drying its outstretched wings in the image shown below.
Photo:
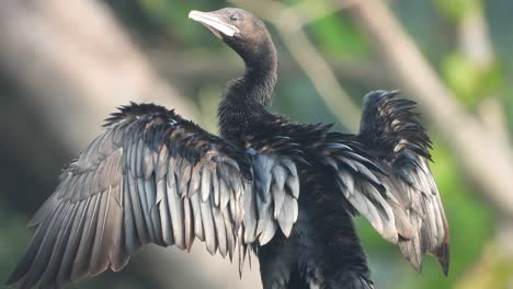
<path fill-rule="evenodd" d="M 60 176 L 9 279 L 21 288 L 121 270 L 155 243 L 239 264 L 258 254 L 264 288 L 374 288 L 352 222 L 360 213 L 417 269 L 425 252 L 448 269 L 448 228 L 414 103 L 364 99 L 357 135 L 265 109 L 277 56 L 264 23 L 241 9 L 189 16 L 246 63 L 219 105 L 220 137 L 155 104 L 123 106 Z"/>

